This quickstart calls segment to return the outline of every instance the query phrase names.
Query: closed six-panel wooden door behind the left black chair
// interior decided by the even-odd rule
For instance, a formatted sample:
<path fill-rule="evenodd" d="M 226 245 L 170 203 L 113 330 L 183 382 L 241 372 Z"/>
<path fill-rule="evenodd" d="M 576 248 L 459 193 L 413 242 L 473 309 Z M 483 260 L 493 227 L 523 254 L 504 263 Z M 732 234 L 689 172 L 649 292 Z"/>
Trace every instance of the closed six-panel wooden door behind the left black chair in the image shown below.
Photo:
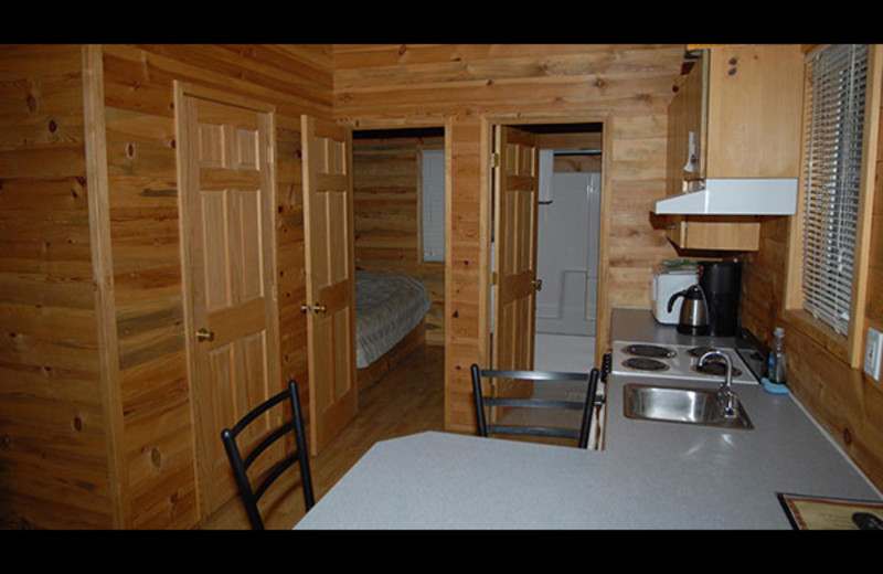
<path fill-rule="evenodd" d="M 274 114 L 195 86 L 177 88 L 187 347 L 208 515 L 236 495 L 221 431 L 283 389 Z M 279 422 L 278 413 L 267 415 L 241 445 L 251 447 Z M 265 456 L 256 471 L 278 456 Z"/>

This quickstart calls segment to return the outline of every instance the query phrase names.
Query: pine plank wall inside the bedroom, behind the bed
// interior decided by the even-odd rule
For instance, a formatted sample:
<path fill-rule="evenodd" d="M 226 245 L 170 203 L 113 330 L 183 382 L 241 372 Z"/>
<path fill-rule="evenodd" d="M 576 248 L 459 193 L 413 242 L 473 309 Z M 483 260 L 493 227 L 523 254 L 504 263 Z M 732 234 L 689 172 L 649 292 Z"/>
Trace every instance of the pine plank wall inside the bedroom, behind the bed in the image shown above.
<path fill-rule="evenodd" d="M 442 137 L 353 140 L 355 268 L 400 272 L 423 281 L 433 307 L 426 343 L 445 344 L 445 265 L 421 254 L 419 153 Z"/>

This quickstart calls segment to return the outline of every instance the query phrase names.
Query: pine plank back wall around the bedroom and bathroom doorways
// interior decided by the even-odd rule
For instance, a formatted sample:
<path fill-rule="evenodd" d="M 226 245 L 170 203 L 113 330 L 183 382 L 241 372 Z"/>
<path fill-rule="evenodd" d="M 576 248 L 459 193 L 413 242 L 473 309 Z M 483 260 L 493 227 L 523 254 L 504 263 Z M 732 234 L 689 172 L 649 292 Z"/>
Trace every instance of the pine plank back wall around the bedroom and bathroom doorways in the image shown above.
<path fill-rule="evenodd" d="M 608 300 L 650 306 L 650 269 L 674 256 L 649 211 L 664 195 L 667 107 L 684 45 L 334 45 L 334 117 L 361 127 L 446 123 L 450 181 L 445 419 L 474 426 L 469 365 L 487 354 L 487 121 L 609 118 Z M 599 321 L 599 325 L 603 322 Z"/>

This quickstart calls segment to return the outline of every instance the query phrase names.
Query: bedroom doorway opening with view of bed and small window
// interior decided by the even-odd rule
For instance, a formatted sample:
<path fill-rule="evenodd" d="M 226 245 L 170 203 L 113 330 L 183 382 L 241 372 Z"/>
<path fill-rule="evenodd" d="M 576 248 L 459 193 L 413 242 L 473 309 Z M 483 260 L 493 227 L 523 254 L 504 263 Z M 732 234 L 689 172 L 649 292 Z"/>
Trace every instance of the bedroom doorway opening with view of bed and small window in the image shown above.
<path fill-rule="evenodd" d="M 354 253 L 357 269 L 357 361 L 360 392 L 379 383 L 421 346 L 444 351 L 445 295 L 445 128 L 414 127 L 353 130 Z M 394 340 L 366 340 L 368 312 L 362 300 L 376 306 L 368 289 L 386 290 L 386 283 L 416 286 L 427 301 L 413 307 L 402 328 L 386 327 Z M 407 315 L 407 313 L 405 313 Z M 364 321 L 359 320 L 362 317 Z M 416 323 L 416 325 L 414 325 Z M 407 326 L 407 329 L 404 326 Z M 374 329 L 377 330 L 377 329 Z M 444 385 L 444 372 L 438 373 Z M 439 404 L 439 410 L 444 408 Z"/>

